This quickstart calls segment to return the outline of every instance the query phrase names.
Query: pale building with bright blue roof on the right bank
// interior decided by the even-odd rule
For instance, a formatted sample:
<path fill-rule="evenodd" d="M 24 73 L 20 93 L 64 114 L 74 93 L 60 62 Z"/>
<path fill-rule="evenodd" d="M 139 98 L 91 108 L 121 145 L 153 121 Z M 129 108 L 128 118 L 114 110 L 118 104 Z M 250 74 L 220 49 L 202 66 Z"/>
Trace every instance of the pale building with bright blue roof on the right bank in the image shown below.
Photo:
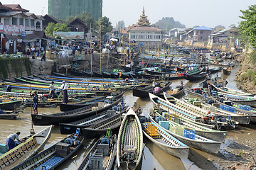
<path fill-rule="evenodd" d="M 212 29 L 206 26 L 196 27 L 188 32 L 188 40 L 192 42 L 207 42 Z"/>

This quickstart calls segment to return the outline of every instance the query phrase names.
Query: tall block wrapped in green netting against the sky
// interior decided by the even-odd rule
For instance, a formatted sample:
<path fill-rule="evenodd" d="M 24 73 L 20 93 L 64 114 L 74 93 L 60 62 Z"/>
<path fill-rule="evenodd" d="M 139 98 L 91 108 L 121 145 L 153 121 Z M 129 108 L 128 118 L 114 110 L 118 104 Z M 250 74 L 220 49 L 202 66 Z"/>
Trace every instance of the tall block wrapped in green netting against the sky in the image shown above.
<path fill-rule="evenodd" d="M 97 21 L 102 17 L 102 0 L 48 0 L 48 15 L 65 20 L 83 11 Z"/>

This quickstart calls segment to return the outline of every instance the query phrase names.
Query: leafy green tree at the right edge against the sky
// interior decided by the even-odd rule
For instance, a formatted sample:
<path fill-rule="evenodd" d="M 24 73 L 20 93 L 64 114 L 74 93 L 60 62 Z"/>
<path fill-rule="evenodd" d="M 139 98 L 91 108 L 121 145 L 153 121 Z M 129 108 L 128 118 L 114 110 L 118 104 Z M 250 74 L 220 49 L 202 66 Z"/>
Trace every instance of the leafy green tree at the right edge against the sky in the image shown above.
<path fill-rule="evenodd" d="M 256 5 L 249 6 L 245 11 L 240 10 L 242 13 L 242 21 L 239 23 L 240 37 L 245 44 L 251 45 L 256 48 Z"/>

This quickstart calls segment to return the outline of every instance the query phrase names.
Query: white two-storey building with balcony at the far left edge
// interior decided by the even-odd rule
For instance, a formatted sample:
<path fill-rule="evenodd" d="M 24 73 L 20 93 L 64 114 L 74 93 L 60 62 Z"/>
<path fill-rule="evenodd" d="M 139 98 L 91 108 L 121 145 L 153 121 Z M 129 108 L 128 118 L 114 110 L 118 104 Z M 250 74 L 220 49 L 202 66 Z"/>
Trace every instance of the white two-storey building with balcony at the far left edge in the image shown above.
<path fill-rule="evenodd" d="M 2 48 L 22 52 L 27 45 L 41 46 L 43 21 L 18 4 L 0 3 L 0 34 Z"/>

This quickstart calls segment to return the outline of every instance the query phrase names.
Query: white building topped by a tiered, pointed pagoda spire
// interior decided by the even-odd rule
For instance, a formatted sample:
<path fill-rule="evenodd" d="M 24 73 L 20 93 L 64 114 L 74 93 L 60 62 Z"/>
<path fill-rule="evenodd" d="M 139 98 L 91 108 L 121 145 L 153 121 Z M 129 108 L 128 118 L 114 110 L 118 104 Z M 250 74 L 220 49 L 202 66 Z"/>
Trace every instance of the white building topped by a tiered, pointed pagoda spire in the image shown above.
<path fill-rule="evenodd" d="M 142 16 L 137 25 L 129 27 L 129 41 L 130 42 L 143 42 L 145 44 L 161 44 L 162 31 L 159 28 L 150 25 L 147 16 L 145 15 L 144 7 Z"/>

